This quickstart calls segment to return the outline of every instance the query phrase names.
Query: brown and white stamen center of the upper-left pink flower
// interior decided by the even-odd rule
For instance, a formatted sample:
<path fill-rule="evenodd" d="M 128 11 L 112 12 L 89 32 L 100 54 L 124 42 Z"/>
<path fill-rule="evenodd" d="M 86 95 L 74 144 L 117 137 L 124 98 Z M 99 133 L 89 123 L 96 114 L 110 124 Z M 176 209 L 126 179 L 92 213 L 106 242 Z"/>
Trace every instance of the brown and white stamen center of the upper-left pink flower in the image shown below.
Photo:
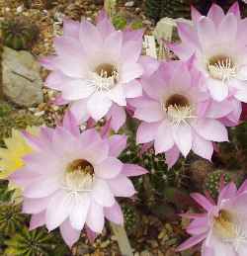
<path fill-rule="evenodd" d="M 95 68 L 93 79 L 98 91 L 109 91 L 118 84 L 120 74 L 115 65 L 103 63 Z"/>

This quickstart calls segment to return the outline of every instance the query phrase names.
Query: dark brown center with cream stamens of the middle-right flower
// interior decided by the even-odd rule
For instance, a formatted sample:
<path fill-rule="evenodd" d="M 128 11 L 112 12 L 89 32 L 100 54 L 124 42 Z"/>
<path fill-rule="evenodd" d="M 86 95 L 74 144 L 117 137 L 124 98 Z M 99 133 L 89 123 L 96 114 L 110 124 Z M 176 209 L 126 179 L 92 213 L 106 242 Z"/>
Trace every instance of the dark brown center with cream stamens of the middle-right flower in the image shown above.
<path fill-rule="evenodd" d="M 194 111 L 189 100 L 180 94 L 170 96 L 162 103 L 162 109 L 175 126 L 179 126 L 181 123 L 188 124 L 189 119 L 196 118 L 196 116 L 193 116 Z"/>

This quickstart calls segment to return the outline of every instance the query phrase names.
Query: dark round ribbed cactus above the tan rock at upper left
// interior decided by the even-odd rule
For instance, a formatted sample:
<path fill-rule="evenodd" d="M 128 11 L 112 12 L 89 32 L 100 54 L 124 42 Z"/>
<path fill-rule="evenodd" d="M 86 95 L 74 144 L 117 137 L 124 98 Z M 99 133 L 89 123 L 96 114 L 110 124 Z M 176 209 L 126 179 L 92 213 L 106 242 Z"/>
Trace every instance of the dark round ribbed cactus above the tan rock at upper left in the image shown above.
<path fill-rule="evenodd" d="M 24 18 L 8 19 L 1 24 L 3 44 L 14 49 L 28 49 L 38 39 L 38 27 Z"/>

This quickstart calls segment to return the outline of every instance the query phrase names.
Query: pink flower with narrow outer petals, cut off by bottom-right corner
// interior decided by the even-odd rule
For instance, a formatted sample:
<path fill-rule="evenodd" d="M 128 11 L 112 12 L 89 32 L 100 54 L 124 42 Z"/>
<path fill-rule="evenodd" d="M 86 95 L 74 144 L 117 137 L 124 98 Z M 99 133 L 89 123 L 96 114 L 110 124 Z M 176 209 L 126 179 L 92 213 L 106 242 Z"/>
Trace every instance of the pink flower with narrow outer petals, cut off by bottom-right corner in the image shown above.
<path fill-rule="evenodd" d="M 202 256 L 247 255 L 247 181 L 239 190 L 234 183 L 226 185 L 219 193 L 217 204 L 198 193 L 192 194 L 192 198 L 206 213 L 184 214 L 193 219 L 187 227 L 192 237 L 178 251 L 203 242 Z"/>

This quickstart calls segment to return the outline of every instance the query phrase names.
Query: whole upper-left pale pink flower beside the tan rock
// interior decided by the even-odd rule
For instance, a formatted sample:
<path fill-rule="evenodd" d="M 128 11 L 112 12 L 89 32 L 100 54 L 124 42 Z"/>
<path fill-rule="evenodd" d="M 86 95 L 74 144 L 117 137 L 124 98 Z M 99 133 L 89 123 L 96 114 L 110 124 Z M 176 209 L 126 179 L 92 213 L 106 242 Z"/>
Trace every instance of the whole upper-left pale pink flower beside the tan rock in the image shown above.
<path fill-rule="evenodd" d="M 54 40 L 56 55 L 41 59 L 52 72 L 45 85 L 61 92 L 78 122 L 112 117 L 113 128 L 124 125 L 126 99 L 141 96 L 137 78 L 143 31 L 116 31 L 104 12 L 96 26 L 65 20 L 63 36 Z"/>

